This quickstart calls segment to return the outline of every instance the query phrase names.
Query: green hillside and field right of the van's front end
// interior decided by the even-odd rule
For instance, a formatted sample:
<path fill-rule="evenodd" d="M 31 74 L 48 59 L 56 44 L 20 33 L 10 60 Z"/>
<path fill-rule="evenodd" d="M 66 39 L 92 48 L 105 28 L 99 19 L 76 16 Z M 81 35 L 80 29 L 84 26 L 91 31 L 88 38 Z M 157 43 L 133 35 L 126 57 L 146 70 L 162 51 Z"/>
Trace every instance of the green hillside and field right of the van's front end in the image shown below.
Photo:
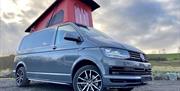
<path fill-rule="evenodd" d="M 153 72 L 180 72 L 179 54 L 149 54 Z"/>

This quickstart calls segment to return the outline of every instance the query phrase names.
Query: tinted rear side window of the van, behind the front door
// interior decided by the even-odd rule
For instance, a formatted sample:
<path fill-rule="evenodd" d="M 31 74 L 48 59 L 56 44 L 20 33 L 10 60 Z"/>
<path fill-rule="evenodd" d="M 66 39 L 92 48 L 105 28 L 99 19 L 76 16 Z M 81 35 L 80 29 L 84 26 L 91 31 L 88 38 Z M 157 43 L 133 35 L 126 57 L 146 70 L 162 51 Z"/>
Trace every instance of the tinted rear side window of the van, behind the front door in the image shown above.
<path fill-rule="evenodd" d="M 53 43 L 53 36 L 52 29 L 34 32 L 22 40 L 20 50 L 49 46 Z"/>

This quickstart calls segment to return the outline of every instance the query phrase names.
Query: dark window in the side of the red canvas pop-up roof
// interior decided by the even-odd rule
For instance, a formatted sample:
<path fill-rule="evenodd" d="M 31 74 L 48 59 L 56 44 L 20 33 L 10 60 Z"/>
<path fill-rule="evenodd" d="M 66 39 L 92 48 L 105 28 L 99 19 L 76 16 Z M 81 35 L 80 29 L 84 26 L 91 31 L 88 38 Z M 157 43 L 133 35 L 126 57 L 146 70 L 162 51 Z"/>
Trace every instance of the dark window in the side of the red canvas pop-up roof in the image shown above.
<path fill-rule="evenodd" d="M 62 23 L 64 20 L 64 11 L 63 10 L 60 10 L 58 13 L 56 13 L 48 26 L 51 26 L 51 25 L 54 25 L 54 24 L 57 24 L 57 23 Z"/>

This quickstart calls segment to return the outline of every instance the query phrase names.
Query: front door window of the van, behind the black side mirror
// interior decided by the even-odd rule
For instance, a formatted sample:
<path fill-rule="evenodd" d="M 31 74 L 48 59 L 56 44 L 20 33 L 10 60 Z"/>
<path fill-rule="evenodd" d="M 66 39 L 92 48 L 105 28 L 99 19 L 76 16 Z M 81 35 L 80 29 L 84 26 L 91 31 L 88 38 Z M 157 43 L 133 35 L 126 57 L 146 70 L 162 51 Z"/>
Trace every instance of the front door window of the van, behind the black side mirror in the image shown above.
<path fill-rule="evenodd" d="M 58 34 L 56 38 L 56 45 L 58 46 L 75 46 L 76 42 L 74 41 L 68 41 L 64 39 L 64 36 L 67 32 L 74 33 L 76 35 L 79 35 L 79 33 L 70 25 L 61 26 L 58 28 Z"/>

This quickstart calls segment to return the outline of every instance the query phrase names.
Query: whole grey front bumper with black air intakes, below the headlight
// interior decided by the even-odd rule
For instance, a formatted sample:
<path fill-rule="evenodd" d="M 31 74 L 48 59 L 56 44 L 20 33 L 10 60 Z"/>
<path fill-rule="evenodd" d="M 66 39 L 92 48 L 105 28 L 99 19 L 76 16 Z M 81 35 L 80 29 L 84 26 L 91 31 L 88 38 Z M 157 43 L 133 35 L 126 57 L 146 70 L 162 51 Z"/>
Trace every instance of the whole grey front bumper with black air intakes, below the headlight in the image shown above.
<path fill-rule="evenodd" d="M 104 58 L 104 86 L 131 88 L 152 81 L 151 64 L 131 60 Z"/>

